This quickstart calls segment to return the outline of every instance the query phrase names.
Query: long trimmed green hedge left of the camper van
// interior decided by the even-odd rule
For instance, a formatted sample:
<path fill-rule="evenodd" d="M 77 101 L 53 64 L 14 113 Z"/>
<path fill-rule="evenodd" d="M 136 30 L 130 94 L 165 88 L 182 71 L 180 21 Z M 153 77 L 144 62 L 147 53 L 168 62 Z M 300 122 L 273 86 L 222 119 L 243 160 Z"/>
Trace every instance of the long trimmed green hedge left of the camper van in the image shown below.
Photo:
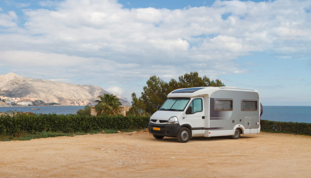
<path fill-rule="evenodd" d="M 20 114 L 0 115 L 0 135 L 12 135 L 20 131 L 34 132 L 85 132 L 103 129 L 144 129 L 148 127 L 148 116 L 123 115 L 57 115 Z"/>

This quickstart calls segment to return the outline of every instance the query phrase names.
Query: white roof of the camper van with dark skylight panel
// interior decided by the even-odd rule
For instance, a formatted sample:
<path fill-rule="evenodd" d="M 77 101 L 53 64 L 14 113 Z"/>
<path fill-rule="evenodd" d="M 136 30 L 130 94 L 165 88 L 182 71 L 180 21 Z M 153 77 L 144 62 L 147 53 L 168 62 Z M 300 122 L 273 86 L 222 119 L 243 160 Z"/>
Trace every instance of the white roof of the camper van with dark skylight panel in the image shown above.
<path fill-rule="evenodd" d="M 193 88 L 180 88 L 170 92 L 167 97 L 174 98 L 174 97 L 198 97 L 198 96 L 205 96 L 209 97 L 215 91 L 220 90 L 230 90 L 230 91 L 250 91 L 250 92 L 257 92 L 256 90 L 251 89 L 243 89 L 243 88 L 236 88 L 236 87 L 193 87 Z M 259 93 L 258 93 L 259 95 Z"/>

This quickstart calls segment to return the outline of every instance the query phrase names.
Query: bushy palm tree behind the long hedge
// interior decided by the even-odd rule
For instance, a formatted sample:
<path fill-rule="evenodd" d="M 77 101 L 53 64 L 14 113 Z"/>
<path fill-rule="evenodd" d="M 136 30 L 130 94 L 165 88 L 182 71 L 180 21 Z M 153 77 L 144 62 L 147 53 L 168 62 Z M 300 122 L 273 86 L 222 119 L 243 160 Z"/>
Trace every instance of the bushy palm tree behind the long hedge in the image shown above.
<path fill-rule="evenodd" d="M 121 102 L 118 98 L 116 98 L 116 96 L 104 93 L 102 96 L 97 97 L 100 98 L 100 100 L 95 101 L 97 102 L 97 105 L 95 105 L 96 115 L 115 115 L 120 113 Z"/>

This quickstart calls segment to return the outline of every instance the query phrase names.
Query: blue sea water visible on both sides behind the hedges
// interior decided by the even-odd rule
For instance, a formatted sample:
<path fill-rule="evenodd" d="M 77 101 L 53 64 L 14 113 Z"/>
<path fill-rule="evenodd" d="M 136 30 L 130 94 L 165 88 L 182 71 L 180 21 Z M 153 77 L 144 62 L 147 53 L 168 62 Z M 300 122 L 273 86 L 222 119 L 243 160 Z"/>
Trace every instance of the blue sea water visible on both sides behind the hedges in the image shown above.
<path fill-rule="evenodd" d="M 37 108 L 40 110 L 30 110 Z M 84 106 L 21 106 L 21 107 L 0 107 L 0 112 L 22 111 L 42 114 L 76 114 L 77 110 L 84 109 Z M 263 106 L 261 116 L 263 120 L 282 122 L 304 122 L 311 123 L 311 106 Z"/>

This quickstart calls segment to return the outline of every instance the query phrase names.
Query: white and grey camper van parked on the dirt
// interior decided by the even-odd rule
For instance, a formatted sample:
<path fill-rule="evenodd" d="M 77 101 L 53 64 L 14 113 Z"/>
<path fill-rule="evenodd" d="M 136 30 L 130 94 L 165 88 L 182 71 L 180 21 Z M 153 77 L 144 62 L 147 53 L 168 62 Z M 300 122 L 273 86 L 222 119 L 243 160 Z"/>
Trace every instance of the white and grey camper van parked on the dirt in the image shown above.
<path fill-rule="evenodd" d="M 258 91 L 235 87 L 194 87 L 170 92 L 150 117 L 149 133 L 156 139 L 230 136 L 260 132 Z"/>

